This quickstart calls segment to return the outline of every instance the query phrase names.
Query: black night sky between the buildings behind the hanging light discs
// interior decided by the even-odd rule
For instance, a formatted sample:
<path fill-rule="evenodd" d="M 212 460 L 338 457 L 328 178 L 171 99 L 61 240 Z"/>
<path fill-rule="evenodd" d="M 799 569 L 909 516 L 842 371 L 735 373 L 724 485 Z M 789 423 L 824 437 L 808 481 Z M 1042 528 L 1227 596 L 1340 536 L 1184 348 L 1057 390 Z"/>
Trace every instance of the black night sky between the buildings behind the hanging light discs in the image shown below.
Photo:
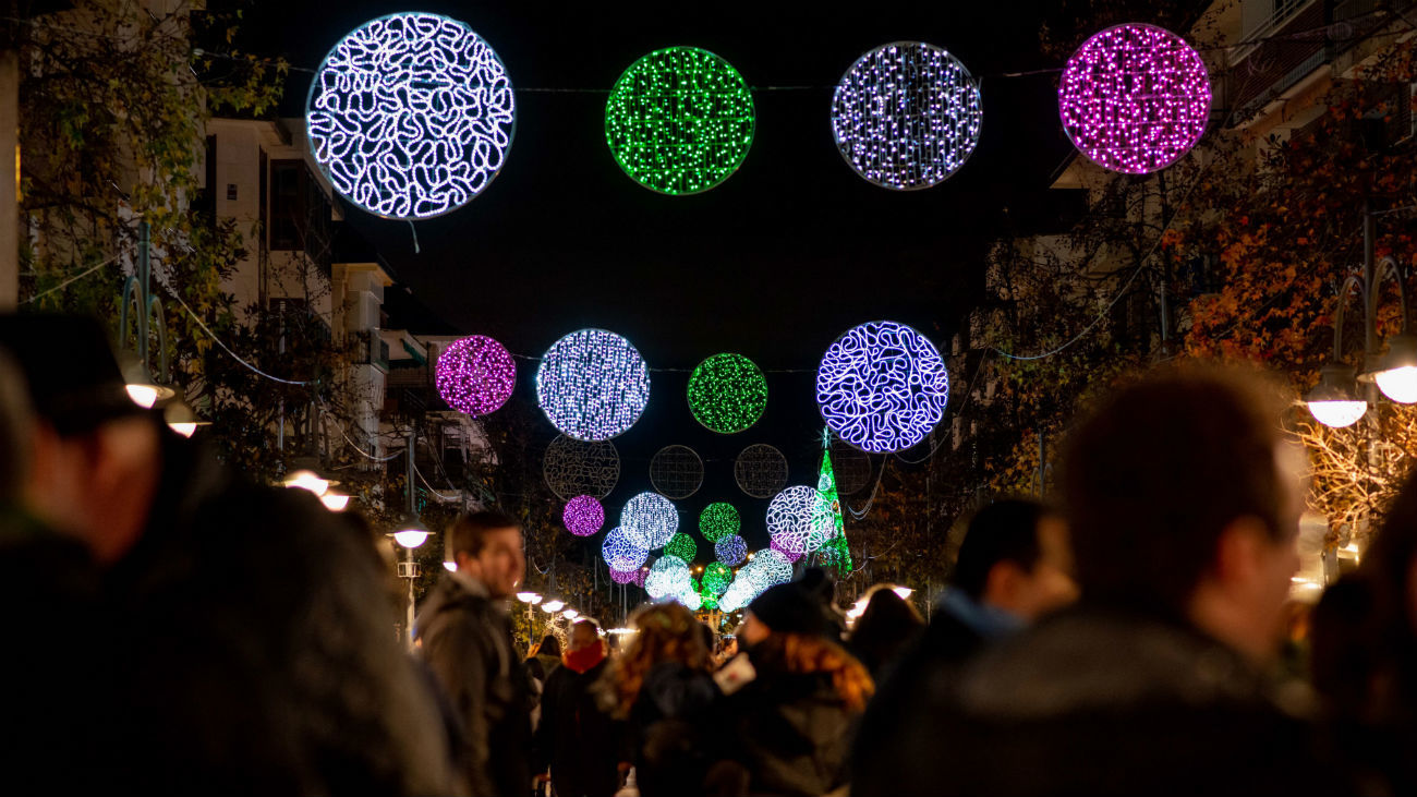
<path fill-rule="evenodd" d="M 652 367 L 690 369 L 740 352 L 765 369 L 815 369 L 857 323 L 896 319 L 944 345 L 976 299 L 982 257 L 1005 227 L 1047 220 L 1051 173 L 1070 152 L 1056 77 L 1003 72 L 1056 67 L 1039 54 L 1033 3 L 272 3 L 248 9 L 252 45 L 315 68 L 368 18 L 425 10 L 466 21 L 497 51 L 521 92 L 517 130 L 496 182 L 469 206 L 410 225 L 346 206 L 398 278 L 461 332 L 540 355 L 560 336 L 601 326 L 628 336 Z M 898 193 L 871 186 L 832 140 L 832 87 L 863 52 L 922 40 L 982 77 L 983 133 L 945 183 Z M 696 45 L 727 58 L 757 91 L 757 130 L 743 167 L 699 196 L 652 193 L 605 145 L 605 91 L 640 55 Z M 283 115 L 303 115 L 310 74 L 292 71 Z M 531 400 L 524 369 L 513 400 Z M 760 428 L 728 438 L 699 428 L 684 407 L 686 373 L 656 373 L 645 418 L 616 440 L 623 501 L 648 489 L 649 455 L 684 442 L 710 459 L 693 506 L 743 502 L 731 458 L 751 442 L 789 452 L 792 484 L 813 484 L 811 373 L 769 374 Z M 951 374 L 961 384 L 964 374 Z M 547 425 L 548 438 L 554 434 Z M 716 495 L 717 494 L 717 495 Z M 700 501 L 701 499 L 701 501 Z M 761 502 L 765 506 L 765 502 Z M 757 509 L 745 513 L 757 515 Z M 761 519 L 755 519 L 761 528 Z M 762 540 L 750 539 L 757 546 Z M 703 559 L 703 557 L 701 557 Z"/>

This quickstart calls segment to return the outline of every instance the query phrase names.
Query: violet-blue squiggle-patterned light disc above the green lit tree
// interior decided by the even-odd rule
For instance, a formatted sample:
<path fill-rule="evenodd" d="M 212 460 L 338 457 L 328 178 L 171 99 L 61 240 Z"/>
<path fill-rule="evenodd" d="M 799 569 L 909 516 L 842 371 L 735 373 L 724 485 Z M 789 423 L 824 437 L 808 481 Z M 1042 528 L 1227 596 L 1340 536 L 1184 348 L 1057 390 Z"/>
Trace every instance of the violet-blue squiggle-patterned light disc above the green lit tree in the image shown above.
<path fill-rule="evenodd" d="M 949 376 L 924 335 L 893 321 L 863 323 L 822 355 L 816 403 L 837 437 L 876 454 L 903 451 L 935 428 Z"/>

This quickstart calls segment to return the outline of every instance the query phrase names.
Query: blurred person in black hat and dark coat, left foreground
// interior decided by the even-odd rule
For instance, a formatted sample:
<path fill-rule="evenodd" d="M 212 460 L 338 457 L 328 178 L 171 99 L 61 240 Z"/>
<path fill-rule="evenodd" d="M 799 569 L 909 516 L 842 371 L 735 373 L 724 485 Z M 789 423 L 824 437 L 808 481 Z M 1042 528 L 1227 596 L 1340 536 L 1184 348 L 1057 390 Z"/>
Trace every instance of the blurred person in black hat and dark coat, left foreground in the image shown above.
<path fill-rule="evenodd" d="M 71 729 L 101 743 L 40 742 L 69 750 L 65 777 L 132 793 L 455 788 L 360 520 L 235 478 L 170 433 L 129 400 L 96 321 L 3 315 L 0 350 L 37 414 L 24 503 L 101 570 L 89 621 L 65 628 L 85 664 L 62 695 L 82 706 Z"/>

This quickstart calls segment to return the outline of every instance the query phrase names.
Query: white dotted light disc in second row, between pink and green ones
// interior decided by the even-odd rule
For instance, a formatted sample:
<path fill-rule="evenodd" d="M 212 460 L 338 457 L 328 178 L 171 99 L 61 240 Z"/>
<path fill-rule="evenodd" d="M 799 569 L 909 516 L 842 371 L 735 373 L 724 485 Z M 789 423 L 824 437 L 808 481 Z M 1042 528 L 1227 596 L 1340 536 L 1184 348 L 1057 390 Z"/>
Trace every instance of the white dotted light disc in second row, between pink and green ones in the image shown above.
<path fill-rule="evenodd" d="M 649 366 L 619 335 L 582 329 L 547 349 L 536 370 L 536 397 L 551 425 L 567 437 L 609 440 L 645 411 Z"/>

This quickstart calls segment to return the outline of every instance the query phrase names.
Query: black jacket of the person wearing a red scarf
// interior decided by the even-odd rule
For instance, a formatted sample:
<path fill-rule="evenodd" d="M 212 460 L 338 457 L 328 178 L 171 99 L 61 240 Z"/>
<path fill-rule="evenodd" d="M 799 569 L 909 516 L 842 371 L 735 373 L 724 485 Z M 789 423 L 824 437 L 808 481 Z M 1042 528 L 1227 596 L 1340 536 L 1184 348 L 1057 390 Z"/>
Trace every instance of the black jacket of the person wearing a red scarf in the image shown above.
<path fill-rule="evenodd" d="M 591 686 L 608 659 L 585 672 L 557 667 L 541 693 L 536 770 L 551 767 L 558 797 L 611 797 L 619 787 L 619 723 L 597 705 Z"/>

